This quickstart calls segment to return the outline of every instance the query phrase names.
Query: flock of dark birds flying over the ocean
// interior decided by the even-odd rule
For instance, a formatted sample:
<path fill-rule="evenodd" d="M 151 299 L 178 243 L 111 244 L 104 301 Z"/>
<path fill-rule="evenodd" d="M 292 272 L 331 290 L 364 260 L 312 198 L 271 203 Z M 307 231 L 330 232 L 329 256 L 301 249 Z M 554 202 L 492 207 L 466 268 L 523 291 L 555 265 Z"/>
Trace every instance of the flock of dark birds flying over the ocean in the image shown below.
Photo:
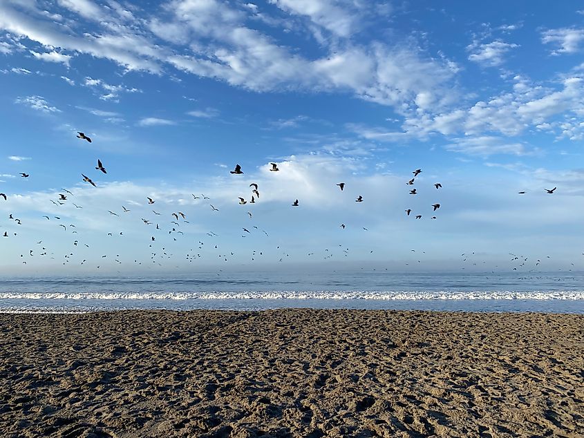
<path fill-rule="evenodd" d="M 92 142 L 91 138 L 88 137 L 87 135 L 85 135 L 82 132 L 77 132 L 77 138 L 81 139 L 81 140 L 86 140 L 87 142 Z M 95 166 L 95 170 L 100 172 L 100 174 L 102 175 L 108 175 L 107 170 L 104 166 L 104 164 L 102 163 L 101 160 L 97 160 L 97 166 Z M 278 167 L 277 163 L 270 163 L 270 168 L 268 169 L 271 172 L 279 172 L 280 169 Z M 241 168 L 241 165 L 236 164 L 236 166 L 234 167 L 234 170 L 230 171 L 230 173 L 232 175 L 243 175 L 244 172 Z M 422 169 L 415 169 L 415 171 L 412 172 L 413 173 L 413 178 L 411 178 L 411 180 L 408 180 L 408 182 L 406 182 L 407 186 L 414 186 L 415 185 L 415 180 L 417 178 L 418 175 L 420 175 L 420 173 L 422 173 Z M 30 174 L 29 173 L 20 173 L 21 178 L 29 178 Z M 91 184 L 91 186 L 93 187 L 97 187 L 97 183 L 90 177 L 88 177 L 87 175 L 85 175 L 84 173 L 81 173 L 82 176 L 82 181 L 86 182 L 88 184 Z M 99 181 L 98 181 L 99 182 Z M 337 187 L 339 187 L 341 192 L 345 192 L 346 189 L 346 183 L 345 182 L 339 182 L 336 184 Z M 436 190 L 442 189 L 442 184 L 440 182 L 436 182 L 435 184 L 433 184 L 433 187 L 435 187 Z M 259 191 L 260 187 L 258 186 L 258 184 L 256 182 L 252 182 L 251 184 L 249 184 L 249 197 L 247 196 L 240 196 L 238 197 L 238 204 L 241 205 L 245 205 L 245 204 L 255 204 L 256 202 L 258 202 L 260 200 L 260 191 Z M 62 191 L 64 193 L 58 193 L 58 198 L 56 198 L 55 200 L 50 200 L 51 202 L 53 202 L 53 204 L 55 204 L 57 207 L 61 207 L 63 205 L 66 205 L 68 202 L 70 202 L 70 198 L 74 198 L 75 195 L 71 192 L 68 191 L 66 189 L 62 189 Z M 556 187 L 554 187 L 553 189 L 545 189 L 545 191 L 547 191 L 547 193 L 552 194 L 554 193 L 554 191 L 556 191 Z M 525 191 L 520 191 L 518 192 L 520 194 L 525 194 Z M 416 187 L 411 187 L 411 189 L 409 189 L 409 195 L 411 196 L 416 196 L 418 194 L 417 188 Z M 202 200 L 202 201 L 206 201 L 206 200 L 210 200 L 209 196 L 205 196 L 204 194 L 200 194 L 200 196 L 196 196 L 195 194 L 191 195 L 194 200 Z M 8 201 L 8 196 L 6 195 L 6 193 L 0 193 L 0 197 L 4 199 L 4 201 Z M 146 202 L 147 200 L 147 202 Z M 366 200 L 364 199 L 364 197 L 359 194 L 357 196 L 357 198 L 355 199 L 355 202 L 365 202 Z M 154 199 L 151 196 L 146 196 L 145 197 L 145 202 L 147 205 L 152 206 L 153 204 L 156 203 L 156 199 Z M 71 202 L 71 204 L 73 204 L 73 207 L 75 209 L 82 209 L 83 206 L 82 205 L 78 205 L 75 204 L 74 202 Z M 301 206 L 301 202 L 299 201 L 299 199 L 295 199 L 292 200 L 291 203 L 292 207 L 300 207 Z M 219 209 L 216 208 L 213 204 L 211 204 L 209 202 L 209 207 L 211 208 L 211 211 L 218 213 Z M 435 211 L 437 211 L 438 209 L 440 209 L 440 207 L 442 207 L 442 205 L 440 204 L 440 202 L 435 202 L 434 204 L 428 205 L 428 207 L 432 207 L 432 213 L 435 213 Z M 116 216 L 116 217 L 120 217 L 120 215 L 131 215 L 132 214 L 132 210 L 127 208 L 125 205 L 122 205 L 122 210 L 121 211 L 111 211 L 108 210 L 107 211 L 111 216 Z M 153 213 L 154 217 L 152 218 L 144 218 L 144 217 L 140 217 L 142 224 L 144 226 L 152 226 L 152 229 L 156 229 L 156 233 L 159 233 L 160 231 L 167 231 L 167 236 L 169 236 L 170 238 L 172 238 L 173 241 L 176 241 L 177 238 L 180 238 L 181 236 L 184 236 L 185 233 L 180 229 L 180 227 L 182 225 L 185 224 L 189 224 L 189 220 L 187 220 L 187 214 L 184 213 L 183 211 L 174 211 L 173 213 L 171 213 L 171 217 L 173 218 L 173 220 L 169 220 L 167 222 L 167 220 L 165 220 L 164 218 L 160 218 L 161 220 L 164 221 L 164 223 L 161 222 L 161 220 L 156 220 L 156 218 L 158 218 L 158 216 L 162 216 L 162 213 L 152 209 L 151 212 Z M 407 208 L 405 209 L 406 212 L 406 216 L 413 216 L 415 219 L 420 220 L 422 219 L 423 216 L 423 212 L 414 212 L 414 210 L 412 208 Z M 411 214 L 413 213 L 413 214 Z M 19 218 L 15 218 L 14 216 L 15 213 L 10 213 L 9 215 L 9 219 L 13 220 L 15 222 L 16 225 L 22 225 L 22 221 Z M 249 219 L 252 219 L 253 214 L 251 211 L 247 211 L 247 215 L 249 216 Z M 64 216 L 69 216 L 67 214 L 65 214 Z M 61 216 L 48 216 L 48 215 L 44 215 L 42 216 L 43 218 L 46 218 L 46 220 L 62 220 Z M 431 219 L 435 220 L 437 219 L 437 216 L 431 216 Z M 162 223 L 162 227 L 160 226 L 160 224 Z M 59 223 L 57 224 L 59 227 L 62 227 L 64 229 L 64 231 L 69 230 L 71 234 L 78 234 L 77 231 L 77 227 L 75 224 L 73 223 L 69 223 L 68 225 L 66 225 L 67 222 L 65 223 Z M 346 229 L 346 225 L 344 223 L 341 223 L 340 225 L 341 229 Z M 368 229 L 366 227 L 361 227 L 363 229 L 363 231 L 368 231 Z M 261 231 L 263 232 L 263 234 L 265 234 L 266 237 L 270 237 L 270 235 L 267 233 L 267 231 L 265 229 L 259 229 L 258 226 L 254 225 L 252 227 L 242 227 L 243 233 L 241 237 L 247 237 L 250 234 L 252 234 L 252 231 L 250 231 L 250 229 L 255 231 Z M 186 230 L 185 230 L 186 231 Z M 151 263 L 158 263 L 158 265 L 161 265 L 161 261 L 163 259 L 170 259 L 173 257 L 173 254 L 171 253 L 170 249 L 167 249 L 166 246 L 156 246 L 153 247 L 154 242 L 156 242 L 157 236 L 155 236 L 154 232 L 149 233 L 149 249 L 150 249 L 150 262 Z M 107 236 L 109 237 L 113 237 L 113 236 L 124 236 L 124 231 L 115 231 L 115 232 L 110 232 L 107 234 Z M 11 237 L 10 234 L 8 233 L 8 231 L 4 231 L 3 234 L 1 234 L 0 236 L 3 236 L 3 238 L 9 238 Z M 17 236 L 16 232 L 12 233 L 12 236 Z M 216 238 L 218 237 L 218 234 L 215 234 L 214 231 L 210 231 L 207 232 L 207 236 L 209 236 L 210 238 Z M 29 249 L 28 250 L 28 255 L 25 256 L 25 253 L 21 254 L 20 257 L 21 258 L 26 258 L 28 257 L 29 260 L 30 258 L 32 258 L 35 255 L 35 251 L 39 252 L 40 256 L 49 256 L 50 258 L 55 258 L 55 254 L 53 252 L 49 252 L 49 249 L 47 249 L 47 247 L 45 247 L 43 245 L 42 240 L 39 240 L 37 242 L 37 245 L 39 245 L 39 247 L 41 248 L 40 251 L 35 250 L 35 249 Z M 79 245 L 79 239 L 73 240 L 73 247 L 78 247 Z M 89 248 L 89 245 L 87 245 L 86 243 L 83 244 L 84 247 Z M 213 244 L 211 244 L 212 246 Z M 190 249 L 189 252 L 185 255 L 185 259 L 188 260 L 189 262 L 192 262 L 193 260 L 196 260 L 197 258 L 202 258 L 202 252 L 203 252 L 203 248 L 205 247 L 205 242 L 203 242 L 202 240 L 198 240 L 197 245 L 195 245 L 196 248 Z M 347 257 L 349 254 L 349 248 L 344 248 L 343 249 L 343 245 L 339 245 L 339 248 L 342 251 L 342 255 Z M 218 256 L 219 258 L 225 260 L 225 262 L 227 262 L 227 260 L 229 260 L 230 257 L 234 256 L 234 252 L 233 251 L 225 251 L 222 250 L 218 247 L 218 245 L 214 245 L 214 249 L 217 249 L 218 251 L 216 251 L 216 256 Z M 285 257 L 289 257 L 290 254 L 287 254 L 286 251 L 284 251 L 279 245 L 276 247 L 277 250 L 280 251 L 280 256 L 279 257 L 279 261 L 283 261 L 285 260 Z M 412 250 L 413 252 L 415 252 L 415 250 Z M 373 253 L 373 250 L 370 251 L 371 253 Z M 424 251 L 421 251 L 422 254 L 425 254 Z M 473 253 L 474 254 L 474 253 Z M 255 260 L 257 257 L 263 256 L 263 251 L 258 251 L 258 250 L 254 250 L 252 251 L 251 255 L 251 259 Z M 308 253 L 308 256 L 312 256 L 314 255 L 314 252 L 310 252 Z M 64 254 L 64 259 L 62 260 L 62 264 L 66 265 L 67 263 L 72 262 L 75 259 L 75 252 L 68 252 L 67 254 Z M 87 257 L 91 256 L 91 254 L 87 254 Z M 332 256 L 334 256 L 334 251 L 330 251 L 330 249 L 325 249 L 324 250 L 324 254 L 323 254 L 323 258 L 332 258 Z M 462 256 L 465 256 L 465 254 L 462 254 Z M 104 259 L 107 258 L 108 254 L 104 254 L 102 255 L 100 258 Z M 527 261 L 527 258 L 524 258 L 523 256 L 521 256 L 523 260 L 523 265 L 519 265 L 519 267 L 524 266 L 525 262 Z M 122 264 L 122 261 L 120 260 L 120 254 L 116 254 L 115 257 L 113 258 L 115 263 L 119 263 Z M 77 260 L 77 259 L 75 259 Z M 467 257 L 464 258 L 464 261 L 467 260 Z M 520 260 L 519 257 L 516 257 L 514 260 Z M 79 261 L 79 260 L 77 260 Z M 142 262 L 145 260 L 138 260 L 135 259 L 133 260 L 134 263 L 138 264 L 138 265 L 142 265 Z M 536 265 L 540 264 L 539 259 L 537 259 L 537 263 Z M 420 263 L 420 260 L 417 260 L 418 263 Z M 27 260 L 22 260 L 22 263 L 24 265 L 27 264 Z M 88 259 L 87 258 L 83 258 L 80 262 L 81 265 L 84 265 L 88 263 Z M 407 265 L 408 263 L 406 263 Z M 97 268 L 100 268 L 100 264 L 97 265 Z M 463 268 L 464 269 L 464 268 Z M 516 267 L 514 269 L 517 269 Z"/>

